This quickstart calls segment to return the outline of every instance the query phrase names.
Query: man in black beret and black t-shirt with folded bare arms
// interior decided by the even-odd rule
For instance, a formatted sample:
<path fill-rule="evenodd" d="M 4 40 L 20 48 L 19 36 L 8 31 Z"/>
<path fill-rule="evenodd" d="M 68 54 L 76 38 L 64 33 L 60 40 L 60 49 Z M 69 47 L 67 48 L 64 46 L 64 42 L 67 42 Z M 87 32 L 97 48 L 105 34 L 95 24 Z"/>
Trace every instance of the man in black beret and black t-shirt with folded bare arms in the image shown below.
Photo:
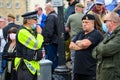
<path fill-rule="evenodd" d="M 76 50 L 73 80 L 95 80 L 96 60 L 92 58 L 92 50 L 102 40 L 102 35 L 94 28 L 94 21 L 93 15 L 85 15 L 83 31 L 70 43 L 70 49 Z"/>

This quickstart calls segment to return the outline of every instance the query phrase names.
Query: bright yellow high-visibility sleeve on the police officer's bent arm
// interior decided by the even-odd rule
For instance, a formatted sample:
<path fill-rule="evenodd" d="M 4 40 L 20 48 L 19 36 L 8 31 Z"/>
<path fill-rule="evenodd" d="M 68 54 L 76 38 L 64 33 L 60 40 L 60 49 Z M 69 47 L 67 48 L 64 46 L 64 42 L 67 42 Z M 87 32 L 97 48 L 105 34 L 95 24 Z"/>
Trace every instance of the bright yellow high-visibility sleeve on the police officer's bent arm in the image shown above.
<path fill-rule="evenodd" d="M 18 41 L 29 49 L 38 50 L 43 43 L 43 36 L 37 34 L 35 38 L 28 30 L 20 29 L 17 36 Z"/>

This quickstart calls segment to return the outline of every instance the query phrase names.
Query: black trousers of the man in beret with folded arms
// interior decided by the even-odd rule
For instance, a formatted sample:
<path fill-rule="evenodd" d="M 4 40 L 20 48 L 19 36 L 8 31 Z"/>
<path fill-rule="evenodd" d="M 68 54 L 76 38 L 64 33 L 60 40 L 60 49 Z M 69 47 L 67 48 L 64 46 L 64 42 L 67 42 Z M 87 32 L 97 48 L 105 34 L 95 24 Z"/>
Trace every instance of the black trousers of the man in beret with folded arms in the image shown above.
<path fill-rule="evenodd" d="M 75 73 L 73 80 L 96 80 L 96 76 Z"/>

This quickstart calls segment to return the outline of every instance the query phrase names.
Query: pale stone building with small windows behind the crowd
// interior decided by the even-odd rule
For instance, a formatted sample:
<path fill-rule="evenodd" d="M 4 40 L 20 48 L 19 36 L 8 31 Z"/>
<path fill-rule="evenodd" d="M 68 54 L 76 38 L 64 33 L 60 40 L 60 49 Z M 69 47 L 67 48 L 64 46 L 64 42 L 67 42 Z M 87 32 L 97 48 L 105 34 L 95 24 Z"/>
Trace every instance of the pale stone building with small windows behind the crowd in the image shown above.
<path fill-rule="evenodd" d="M 0 0 L 0 16 L 7 18 L 8 14 L 16 17 L 16 23 L 22 24 L 21 15 L 26 12 L 26 0 Z"/>

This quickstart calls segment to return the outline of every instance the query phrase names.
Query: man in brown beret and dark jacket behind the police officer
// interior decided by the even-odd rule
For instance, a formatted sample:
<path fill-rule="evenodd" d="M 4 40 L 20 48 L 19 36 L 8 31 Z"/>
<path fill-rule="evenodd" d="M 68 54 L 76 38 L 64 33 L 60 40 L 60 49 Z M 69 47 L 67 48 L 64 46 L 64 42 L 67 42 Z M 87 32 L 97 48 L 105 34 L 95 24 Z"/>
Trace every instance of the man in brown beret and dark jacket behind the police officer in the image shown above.
<path fill-rule="evenodd" d="M 4 38 L 5 40 L 7 40 L 7 32 L 11 27 L 16 27 L 19 28 L 20 26 L 15 24 L 15 16 L 13 16 L 12 14 L 8 15 L 8 25 L 3 29 L 3 33 L 4 33 Z"/>

